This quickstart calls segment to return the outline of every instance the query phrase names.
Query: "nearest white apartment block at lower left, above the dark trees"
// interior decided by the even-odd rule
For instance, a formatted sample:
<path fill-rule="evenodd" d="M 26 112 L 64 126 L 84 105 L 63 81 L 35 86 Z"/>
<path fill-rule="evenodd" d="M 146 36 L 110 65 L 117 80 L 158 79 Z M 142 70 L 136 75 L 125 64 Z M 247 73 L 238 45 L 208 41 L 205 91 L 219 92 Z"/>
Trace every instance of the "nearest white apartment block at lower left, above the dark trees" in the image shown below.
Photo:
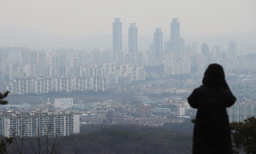
<path fill-rule="evenodd" d="M 45 113 L 19 113 L 12 111 L 2 113 L 0 116 L 0 134 L 6 137 L 12 136 L 50 136 L 58 133 L 60 136 L 68 136 L 79 133 L 80 116 L 71 114 L 69 110 L 65 112 L 45 112 Z"/>

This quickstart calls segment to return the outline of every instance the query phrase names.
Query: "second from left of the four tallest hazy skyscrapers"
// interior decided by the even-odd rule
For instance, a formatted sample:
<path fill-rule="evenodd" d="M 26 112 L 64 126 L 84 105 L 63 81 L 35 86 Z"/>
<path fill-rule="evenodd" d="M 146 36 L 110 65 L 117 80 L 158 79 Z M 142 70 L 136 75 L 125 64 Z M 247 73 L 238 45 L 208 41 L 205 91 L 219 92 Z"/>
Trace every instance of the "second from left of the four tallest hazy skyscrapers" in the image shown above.
<path fill-rule="evenodd" d="M 128 51 L 135 54 L 138 51 L 138 29 L 136 23 L 130 23 L 128 33 Z"/>

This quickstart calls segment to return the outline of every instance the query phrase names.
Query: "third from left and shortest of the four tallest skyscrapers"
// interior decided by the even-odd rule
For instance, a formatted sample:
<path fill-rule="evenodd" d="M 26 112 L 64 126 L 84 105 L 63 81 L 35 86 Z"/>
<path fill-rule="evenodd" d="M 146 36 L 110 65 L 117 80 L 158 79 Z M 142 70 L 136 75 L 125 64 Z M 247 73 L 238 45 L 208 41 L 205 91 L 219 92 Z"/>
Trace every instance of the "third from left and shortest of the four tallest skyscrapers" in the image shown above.
<path fill-rule="evenodd" d="M 156 59 L 161 59 L 163 56 L 163 32 L 161 32 L 161 28 L 156 28 L 156 32 L 154 32 L 153 46 Z"/>

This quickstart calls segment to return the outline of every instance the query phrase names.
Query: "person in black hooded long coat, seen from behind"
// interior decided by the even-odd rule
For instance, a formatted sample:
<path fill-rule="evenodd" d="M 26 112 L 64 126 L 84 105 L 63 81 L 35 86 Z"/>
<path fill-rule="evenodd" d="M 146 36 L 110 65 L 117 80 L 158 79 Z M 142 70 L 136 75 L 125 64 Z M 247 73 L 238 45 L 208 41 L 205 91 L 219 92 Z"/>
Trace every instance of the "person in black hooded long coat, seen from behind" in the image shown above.
<path fill-rule="evenodd" d="M 232 154 L 226 108 L 232 106 L 236 98 L 219 64 L 209 65 L 204 73 L 203 85 L 194 89 L 187 101 L 192 108 L 197 108 L 193 154 Z"/>

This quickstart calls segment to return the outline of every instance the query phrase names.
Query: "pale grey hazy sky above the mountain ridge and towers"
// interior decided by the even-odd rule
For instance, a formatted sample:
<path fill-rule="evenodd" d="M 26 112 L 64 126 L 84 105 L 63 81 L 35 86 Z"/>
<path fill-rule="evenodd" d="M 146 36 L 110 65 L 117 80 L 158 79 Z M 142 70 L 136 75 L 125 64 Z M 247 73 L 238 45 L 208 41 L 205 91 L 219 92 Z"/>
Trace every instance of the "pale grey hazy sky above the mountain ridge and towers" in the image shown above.
<path fill-rule="evenodd" d="M 156 27 L 170 33 L 179 18 L 187 36 L 237 34 L 256 29 L 256 0 L 1 0 L 0 26 L 12 25 L 49 34 L 111 34 L 114 18 L 123 33 L 137 23 L 138 35 Z"/>

